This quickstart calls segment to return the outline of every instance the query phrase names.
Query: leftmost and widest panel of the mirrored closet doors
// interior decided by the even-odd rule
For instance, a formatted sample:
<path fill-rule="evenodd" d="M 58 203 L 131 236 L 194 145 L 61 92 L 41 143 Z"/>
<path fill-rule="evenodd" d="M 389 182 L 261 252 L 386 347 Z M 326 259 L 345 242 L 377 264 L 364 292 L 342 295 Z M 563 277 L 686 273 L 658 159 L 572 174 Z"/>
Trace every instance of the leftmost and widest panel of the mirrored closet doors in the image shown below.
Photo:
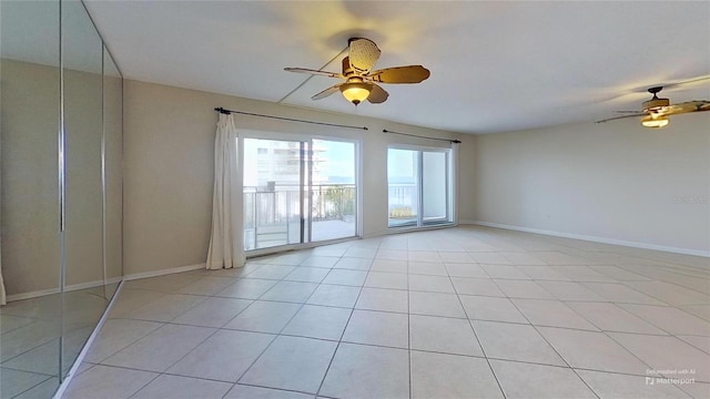
<path fill-rule="evenodd" d="M 59 1 L 0 1 L 0 397 L 60 380 Z"/>

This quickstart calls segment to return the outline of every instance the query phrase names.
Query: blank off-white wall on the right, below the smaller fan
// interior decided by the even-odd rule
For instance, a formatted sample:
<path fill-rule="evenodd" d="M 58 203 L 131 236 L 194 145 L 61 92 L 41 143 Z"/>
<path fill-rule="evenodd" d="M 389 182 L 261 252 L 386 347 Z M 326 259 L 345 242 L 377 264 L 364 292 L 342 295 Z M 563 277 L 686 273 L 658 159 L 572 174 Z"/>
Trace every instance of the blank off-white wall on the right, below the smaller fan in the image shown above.
<path fill-rule="evenodd" d="M 709 132 L 703 113 L 477 136 L 474 218 L 708 255 Z"/>

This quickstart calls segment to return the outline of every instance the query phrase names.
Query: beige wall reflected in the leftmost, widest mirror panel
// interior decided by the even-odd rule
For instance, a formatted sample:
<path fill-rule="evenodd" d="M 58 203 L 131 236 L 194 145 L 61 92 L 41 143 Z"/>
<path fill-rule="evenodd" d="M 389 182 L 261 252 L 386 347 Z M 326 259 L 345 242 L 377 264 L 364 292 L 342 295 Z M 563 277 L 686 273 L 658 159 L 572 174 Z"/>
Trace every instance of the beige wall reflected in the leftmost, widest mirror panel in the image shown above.
<path fill-rule="evenodd" d="M 1 62 L 4 286 L 59 289 L 59 69 Z"/>

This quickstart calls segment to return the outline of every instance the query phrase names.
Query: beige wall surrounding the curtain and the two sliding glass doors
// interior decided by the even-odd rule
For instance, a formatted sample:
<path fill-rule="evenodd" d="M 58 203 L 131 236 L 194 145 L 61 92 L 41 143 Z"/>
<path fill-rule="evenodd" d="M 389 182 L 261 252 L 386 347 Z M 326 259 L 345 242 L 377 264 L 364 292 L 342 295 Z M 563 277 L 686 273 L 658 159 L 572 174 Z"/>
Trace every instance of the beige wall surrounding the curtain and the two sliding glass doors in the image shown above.
<path fill-rule="evenodd" d="M 367 126 L 316 126 L 235 114 L 237 127 L 363 141 L 365 236 L 387 232 L 386 152 L 392 142 L 442 145 L 382 133 L 456 134 L 214 93 L 126 81 L 124 91 L 124 274 L 204 263 L 212 212 L 216 106 L 246 112 Z M 462 140 L 466 143 L 471 137 Z M 470 187 L 467 186 L 467 187 Z M 466 192 L 468 188 L 460 190 Z M 467 198 L 473 194 L 467 193 Z"/>

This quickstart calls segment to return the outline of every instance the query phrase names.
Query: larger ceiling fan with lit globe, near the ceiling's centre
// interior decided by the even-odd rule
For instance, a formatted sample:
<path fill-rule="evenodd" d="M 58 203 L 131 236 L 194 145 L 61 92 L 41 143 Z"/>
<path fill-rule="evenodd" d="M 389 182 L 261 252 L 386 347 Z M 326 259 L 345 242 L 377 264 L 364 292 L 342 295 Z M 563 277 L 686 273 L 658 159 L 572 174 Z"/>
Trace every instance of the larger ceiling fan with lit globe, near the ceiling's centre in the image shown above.
<path fill-rule="evenodd" d="M 284 68 L 284 70 L 344 79 L 345 82 L 325 89 L 311 99 L 325 99 L 339 91 L 347 101 L 355 105 L 365 100 L 373 104 L 385 102 L 389 94 L 377 83 L 419 83 L 429 78 L 429 70 L 422 65 L 385 68 L 373 71 L 372 69 L 382 53 L 377 44 L 369 39 L 351 38 L 347 45 L 348 54 L 343 59 L 342 73 L 305 68 Z"/>

